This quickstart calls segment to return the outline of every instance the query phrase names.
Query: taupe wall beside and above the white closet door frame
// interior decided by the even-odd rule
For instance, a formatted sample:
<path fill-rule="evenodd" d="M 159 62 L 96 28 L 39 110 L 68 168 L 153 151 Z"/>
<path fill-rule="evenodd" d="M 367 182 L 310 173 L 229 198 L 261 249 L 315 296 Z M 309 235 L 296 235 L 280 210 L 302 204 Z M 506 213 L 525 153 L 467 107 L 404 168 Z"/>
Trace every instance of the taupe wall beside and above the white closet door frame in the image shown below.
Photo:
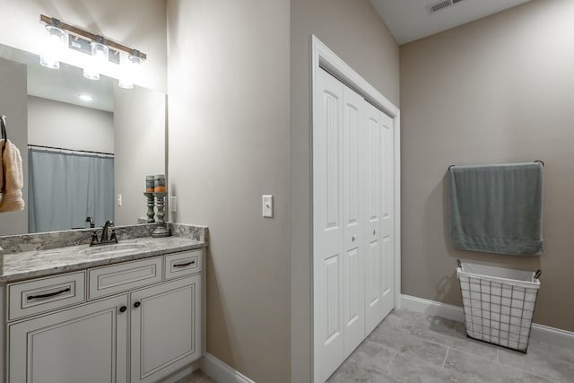
<path fill-rule="evenodd" d="M 399 49 L 368 0 L 291 0 L 291 381 L 311 377 L 309 36 L 398 107 Z"/>

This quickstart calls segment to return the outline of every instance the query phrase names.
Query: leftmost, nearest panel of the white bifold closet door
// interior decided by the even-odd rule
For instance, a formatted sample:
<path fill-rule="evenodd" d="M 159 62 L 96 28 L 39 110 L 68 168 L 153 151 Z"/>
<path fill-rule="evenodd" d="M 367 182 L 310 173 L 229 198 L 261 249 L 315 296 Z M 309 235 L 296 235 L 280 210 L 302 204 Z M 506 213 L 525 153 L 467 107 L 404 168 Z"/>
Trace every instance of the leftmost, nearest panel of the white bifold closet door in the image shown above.
<path fill-rule="evenodd" d="M 320 70 L 313 126 L 315 381 L 344 361 L 343 84 Z"/>

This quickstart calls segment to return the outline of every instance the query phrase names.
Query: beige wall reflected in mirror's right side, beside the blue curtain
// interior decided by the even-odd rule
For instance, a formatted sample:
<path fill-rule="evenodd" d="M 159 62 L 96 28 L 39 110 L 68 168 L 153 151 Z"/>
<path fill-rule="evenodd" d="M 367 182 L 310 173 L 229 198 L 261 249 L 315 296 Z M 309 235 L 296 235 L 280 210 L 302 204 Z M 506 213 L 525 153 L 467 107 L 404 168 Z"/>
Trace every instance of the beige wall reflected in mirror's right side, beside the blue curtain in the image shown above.
<path fill-rule="evenodd" d="M 147 213 L 145 176 L 165 174 L 165 94 L 114 87 L 114 187 L 116 224 L 137 223 Z M 117 195 L 122 205 L 117 205 Z M 167 215 L 166 215 L 167 218 Z M 157 219 L 157 218 L 156 218 Z"/>

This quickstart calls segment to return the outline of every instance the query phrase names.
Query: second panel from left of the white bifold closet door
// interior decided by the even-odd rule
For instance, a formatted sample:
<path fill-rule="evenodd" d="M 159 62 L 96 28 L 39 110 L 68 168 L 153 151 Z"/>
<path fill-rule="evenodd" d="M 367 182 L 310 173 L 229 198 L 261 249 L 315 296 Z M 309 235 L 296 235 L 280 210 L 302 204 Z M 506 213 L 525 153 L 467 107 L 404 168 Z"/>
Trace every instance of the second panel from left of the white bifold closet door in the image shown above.
<path fill-rule="evenodd" d="M 367 172 L 362 162 L 365 141 L 365 100 L 344 87 L 343 97 L 343 290 L 344 290 L 344 358 L 361 344 L 365 336 L 364 302 L 364 232 L 361 217 L 363 187 Z"/>

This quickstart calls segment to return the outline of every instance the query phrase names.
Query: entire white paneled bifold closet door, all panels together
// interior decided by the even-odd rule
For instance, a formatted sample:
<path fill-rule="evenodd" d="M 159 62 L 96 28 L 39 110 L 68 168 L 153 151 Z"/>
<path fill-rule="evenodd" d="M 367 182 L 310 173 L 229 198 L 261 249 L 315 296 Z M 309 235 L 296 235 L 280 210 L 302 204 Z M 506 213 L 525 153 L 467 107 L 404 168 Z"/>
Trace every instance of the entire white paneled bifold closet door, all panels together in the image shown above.
<path fill-rule="evenodd" d="M 394 307 L 393 120 L 320 70 L 313 127 L 315 381 Z"/>

